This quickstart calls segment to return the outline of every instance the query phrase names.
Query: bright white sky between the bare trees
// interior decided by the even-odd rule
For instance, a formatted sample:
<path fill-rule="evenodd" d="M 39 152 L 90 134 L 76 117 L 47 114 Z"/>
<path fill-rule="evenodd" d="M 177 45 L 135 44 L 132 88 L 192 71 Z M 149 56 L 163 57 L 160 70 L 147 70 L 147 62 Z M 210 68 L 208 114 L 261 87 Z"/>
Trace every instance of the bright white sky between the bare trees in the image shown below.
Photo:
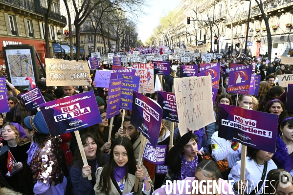
<path fill-rule="evenodd" d="M 149 6 L 145 7 L 148 15 L 141 16 L 140 22 L 137 23 L 138 36 L 142 43 L 153 34 L 153 30 L 159 24 L 161 17 L 179 4 L 180 0 L 150 0 Z"/>

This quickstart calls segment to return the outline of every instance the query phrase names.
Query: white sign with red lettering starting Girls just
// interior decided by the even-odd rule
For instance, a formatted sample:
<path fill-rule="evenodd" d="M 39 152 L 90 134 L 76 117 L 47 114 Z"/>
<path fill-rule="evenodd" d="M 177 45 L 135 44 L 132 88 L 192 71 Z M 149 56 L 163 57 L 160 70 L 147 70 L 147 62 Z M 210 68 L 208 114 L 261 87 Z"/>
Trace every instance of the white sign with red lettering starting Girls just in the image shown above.
<path fill-rule="evenodd" d="M 140 77 L 139 93 L 154 93 L 154 64 L 133 64 L 132 68 Z"/>

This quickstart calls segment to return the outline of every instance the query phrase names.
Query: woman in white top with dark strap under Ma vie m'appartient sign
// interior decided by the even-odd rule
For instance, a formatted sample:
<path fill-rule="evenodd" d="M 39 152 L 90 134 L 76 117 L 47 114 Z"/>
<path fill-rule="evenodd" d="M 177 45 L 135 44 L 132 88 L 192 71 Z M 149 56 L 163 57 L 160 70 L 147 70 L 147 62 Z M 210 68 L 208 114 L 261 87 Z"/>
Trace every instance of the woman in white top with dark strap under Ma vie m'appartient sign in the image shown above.
<path fill-rule="evenodd" d="M 247 153 L 245 182 L 240 181 L 241 160 L 235 163 L 228 178 L 229 180 L 234 180 L 232 184 L 235 195 L 238 195 L 241 189 L 245 189 L 245 193 L 250 194 L 254 192 L 255 188 L 259 189 L 256 195 L 261 195 L 268 172 L 272 169 L 277 169 L 276 164 L 271 160 L 273 153 L 249 146 L 247 147 Z"/>

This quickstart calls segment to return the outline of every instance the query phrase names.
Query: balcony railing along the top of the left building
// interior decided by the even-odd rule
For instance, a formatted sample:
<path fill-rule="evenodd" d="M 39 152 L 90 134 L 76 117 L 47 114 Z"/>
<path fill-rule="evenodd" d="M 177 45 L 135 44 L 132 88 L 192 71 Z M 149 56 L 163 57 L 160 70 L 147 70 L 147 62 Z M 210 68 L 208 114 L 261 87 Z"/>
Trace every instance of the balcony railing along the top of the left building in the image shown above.
<path fill-rule="evenodd" d="M 31 2 L 29 0 L 0 0 L 0 2 L 8 3 L 9 6 L 14 6 L 30 12 L 37 13 L 39 15 L 42 15 L 43 17 L 45 17 L 45 13 L 47 11 L 47 8 L 41 6 L 36 1 Z M 50 12 L 49 18 L 65 24 L 67 23 L 64 16 L 61 16 L 53 11 Z"/>

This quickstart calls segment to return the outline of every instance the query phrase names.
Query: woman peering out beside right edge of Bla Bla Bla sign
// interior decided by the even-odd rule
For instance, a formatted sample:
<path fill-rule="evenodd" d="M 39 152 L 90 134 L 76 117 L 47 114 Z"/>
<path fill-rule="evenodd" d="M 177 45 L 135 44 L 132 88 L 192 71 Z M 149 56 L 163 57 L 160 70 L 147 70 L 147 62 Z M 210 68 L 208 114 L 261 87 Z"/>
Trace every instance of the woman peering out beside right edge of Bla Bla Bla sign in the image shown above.
<path fill-rule="evenodd" d="M 111 142 L 108 142 L 110 127 L 108 119 L 106 119 L 107 112 L 105 109 L 99 109 L 102 122 L 89 127 L 88 133 L 95 134 L 98 138 L 96 144 L 99 145 L 102 153 L 109 152 L 111 149 Z M 113 141 L 113 140 L 112 140 Z"/>

